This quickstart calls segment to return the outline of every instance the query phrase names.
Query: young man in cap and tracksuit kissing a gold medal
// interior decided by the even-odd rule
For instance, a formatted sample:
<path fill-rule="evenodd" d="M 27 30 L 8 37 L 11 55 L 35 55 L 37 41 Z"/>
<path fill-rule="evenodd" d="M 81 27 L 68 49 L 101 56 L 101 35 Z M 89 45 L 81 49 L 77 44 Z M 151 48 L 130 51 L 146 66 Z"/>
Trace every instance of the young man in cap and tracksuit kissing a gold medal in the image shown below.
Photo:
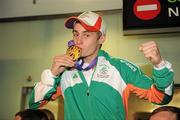
<path fill-rule="evenodd" d="M 65 26 L 73 29 L 73 42 L 81 48 L 81 57 L 73 61 L 66 54 L 56 56 L 34 87 L 30 108 L 39 108 L 61 90 L 67 120 L 125 120 L 129 93 L 157 104 L 171 100 L 173 70 L 154 41 L 140 46 L 154 65 L 153 78 L 149 78 L 137 66 L 100 49 L 106 28 L 98 14 L 84 12 L 70 17 Z"/>

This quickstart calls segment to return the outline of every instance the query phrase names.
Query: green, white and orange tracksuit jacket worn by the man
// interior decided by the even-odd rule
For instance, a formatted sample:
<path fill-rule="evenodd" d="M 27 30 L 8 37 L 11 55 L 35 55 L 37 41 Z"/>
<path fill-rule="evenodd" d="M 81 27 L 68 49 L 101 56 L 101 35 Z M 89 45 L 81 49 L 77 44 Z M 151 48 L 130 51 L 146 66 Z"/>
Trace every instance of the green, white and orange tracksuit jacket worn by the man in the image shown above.
<path fill-rule="evenodd" d="M 150 78 L 139 67 L 99 50 L 96 67 L 86 73 L 73 69 L 54 77 L 50 70 L 44 70 L 29 105 L 38 109 L 62 94 L 66 120 L 125 120 L 130 93 L 156 104 L 171 100 L 174 74 L 171 64 L 165 63 L 154 67 Z"/>

